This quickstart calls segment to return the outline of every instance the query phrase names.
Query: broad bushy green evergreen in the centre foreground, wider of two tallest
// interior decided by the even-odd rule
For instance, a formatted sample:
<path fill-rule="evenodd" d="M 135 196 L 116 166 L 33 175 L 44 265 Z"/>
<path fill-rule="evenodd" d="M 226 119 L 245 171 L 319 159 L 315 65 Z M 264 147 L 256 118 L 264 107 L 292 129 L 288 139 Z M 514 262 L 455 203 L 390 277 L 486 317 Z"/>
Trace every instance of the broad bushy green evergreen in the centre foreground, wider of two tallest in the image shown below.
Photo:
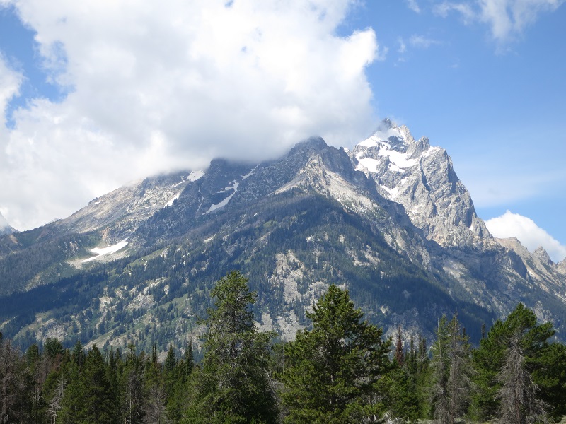
<path fill-rule="evenodd" d="M 379 385 L 391 364 L 391 341 L 362 321 L 347 290 L 331 285 L 308 312 L 313 329 L 289 343 L 282 399 L 289 423 L 359 423 L 385 407 Z"/>

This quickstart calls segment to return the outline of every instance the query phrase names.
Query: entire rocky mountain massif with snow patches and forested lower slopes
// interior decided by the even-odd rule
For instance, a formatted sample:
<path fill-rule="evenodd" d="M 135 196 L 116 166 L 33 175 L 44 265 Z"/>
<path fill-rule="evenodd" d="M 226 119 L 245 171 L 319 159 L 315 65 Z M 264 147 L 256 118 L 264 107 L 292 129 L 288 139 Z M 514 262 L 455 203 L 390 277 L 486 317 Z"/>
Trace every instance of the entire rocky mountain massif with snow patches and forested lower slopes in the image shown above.
<path fill-rule="evenodd" d="M 23 346 L 180 346 L 232 269 L 283 338 L 336 283 L 388 334 L 431 338 L 458 312 L 477 341 L 524 302 L 564 339 L 565 264 L 492 237 L 446 151 L 388 120 L 352 151 L 313 137 L 278 160 L 216 159 L 0 237 L 0 331 Z"/>

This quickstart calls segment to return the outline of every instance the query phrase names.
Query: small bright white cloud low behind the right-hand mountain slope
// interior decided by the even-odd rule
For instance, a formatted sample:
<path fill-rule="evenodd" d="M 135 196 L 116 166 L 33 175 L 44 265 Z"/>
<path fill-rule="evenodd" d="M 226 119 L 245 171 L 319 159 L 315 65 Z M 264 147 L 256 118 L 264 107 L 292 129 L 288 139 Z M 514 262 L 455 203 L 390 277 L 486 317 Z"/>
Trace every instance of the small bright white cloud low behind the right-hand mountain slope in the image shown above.
<path fill-rule="evenodd" d="M 560 245 L 531 218 L 507 211 L 502 216 L 485 221 L 485 225 L 495 237 L 516 237 L 531 252 L 539 246 L 544 247 L 554 262 L 566 258 L 566 246 Z"/>

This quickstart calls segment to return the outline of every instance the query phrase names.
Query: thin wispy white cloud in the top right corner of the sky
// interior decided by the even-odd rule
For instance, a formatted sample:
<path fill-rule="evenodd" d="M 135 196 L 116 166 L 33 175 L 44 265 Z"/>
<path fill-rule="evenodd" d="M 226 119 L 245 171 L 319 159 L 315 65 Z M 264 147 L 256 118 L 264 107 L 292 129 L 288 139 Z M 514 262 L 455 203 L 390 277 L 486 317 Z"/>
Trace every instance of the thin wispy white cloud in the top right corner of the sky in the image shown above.
<path fill-rule="evenodd" d="M 490 27 L 494 40 L 506 43 L 519 37 L 543 12 L 553 12 L 565 0 L 475 0 L 442 1 L 434 12 L 446 17 L 451 11 L 460 13 L 464 22 L 483 22 Z"/>

